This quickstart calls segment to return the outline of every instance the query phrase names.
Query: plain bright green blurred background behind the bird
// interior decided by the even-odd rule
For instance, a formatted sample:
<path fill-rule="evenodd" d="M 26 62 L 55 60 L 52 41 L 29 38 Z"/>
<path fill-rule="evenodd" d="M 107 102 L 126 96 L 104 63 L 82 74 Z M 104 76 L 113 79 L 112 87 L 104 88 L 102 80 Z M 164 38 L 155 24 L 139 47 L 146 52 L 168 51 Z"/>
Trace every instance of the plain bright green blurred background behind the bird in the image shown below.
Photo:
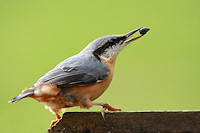
<path fill-rule="evenodd" d="M 94 39 L 151 30 L 124 48 L 96 100 L 123 111 L 200 109 L 199 0 L 0 0 L 0 131 L 46 132 L 55 119 L 18 95 Z M 74 107 L 66 111 L 100 111 Z"/>

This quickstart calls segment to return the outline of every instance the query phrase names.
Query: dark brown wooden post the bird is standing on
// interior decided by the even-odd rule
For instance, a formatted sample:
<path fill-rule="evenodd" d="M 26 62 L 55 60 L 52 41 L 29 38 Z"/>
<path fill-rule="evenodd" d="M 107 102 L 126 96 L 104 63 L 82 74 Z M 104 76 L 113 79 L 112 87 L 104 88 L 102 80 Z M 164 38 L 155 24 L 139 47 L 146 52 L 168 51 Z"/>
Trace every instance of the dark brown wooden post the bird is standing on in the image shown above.
<path fill-rule="evenodd" d="M 105 118 L 100 112 L 66 112 L 53 133 L 200 132 L 200 111 L 106 112 Z"/>

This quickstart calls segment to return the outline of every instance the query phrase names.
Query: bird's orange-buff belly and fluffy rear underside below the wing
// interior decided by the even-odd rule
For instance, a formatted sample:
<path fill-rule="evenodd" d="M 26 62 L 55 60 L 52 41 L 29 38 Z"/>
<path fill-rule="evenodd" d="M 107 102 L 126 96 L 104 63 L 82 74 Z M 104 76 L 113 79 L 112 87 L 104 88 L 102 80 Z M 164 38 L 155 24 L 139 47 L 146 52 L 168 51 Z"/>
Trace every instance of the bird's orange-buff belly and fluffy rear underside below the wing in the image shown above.
<path fill-rule="evenodd" d="M 52 85 L 44 85 L 38 87 L 31 97 L 38 102 L 44 103 L 52 112 L 58 112 L 62 108 L 81 106 L 88 108 L 91 105 L 87 103 L 87 99 L 93 101 L 101 96 L 108 88 L 112 78 L 109 76 L 106 80 L 87 86 L 73 86 L 66 88 L 62 94 L 60 88 Z M 88 104 L 84 107 L 84 104 Z"/>

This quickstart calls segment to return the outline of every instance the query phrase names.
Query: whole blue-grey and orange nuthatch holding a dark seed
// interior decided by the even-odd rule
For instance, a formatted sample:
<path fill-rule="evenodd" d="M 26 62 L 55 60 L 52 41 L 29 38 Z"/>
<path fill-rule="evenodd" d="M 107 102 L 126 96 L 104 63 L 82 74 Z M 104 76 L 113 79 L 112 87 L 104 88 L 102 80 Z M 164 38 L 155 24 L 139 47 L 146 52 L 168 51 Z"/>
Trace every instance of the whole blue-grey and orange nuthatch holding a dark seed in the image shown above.
<path fill-rule="evenodd" d="M 100 97 L 110 85 L 116 58 L 129 43 L 145 35 L 150 29 L 141 27 L 122 35 L 106 35 L 89 43 L 81 52 L 71 56 L 44 74 L 35 84 L 24 89 L 21 94 L 9 100 L 16 103 L 31 97 L 44 103 L 57 117 L 50 129 L 62 118 L 63 108 L 80 106 L 89 109 L 93 105 L 102 106 L 104 111 L 121 111 L 107 103 L 92 102 Z M 139 31 L 139 36 L 132 35 Z"/>

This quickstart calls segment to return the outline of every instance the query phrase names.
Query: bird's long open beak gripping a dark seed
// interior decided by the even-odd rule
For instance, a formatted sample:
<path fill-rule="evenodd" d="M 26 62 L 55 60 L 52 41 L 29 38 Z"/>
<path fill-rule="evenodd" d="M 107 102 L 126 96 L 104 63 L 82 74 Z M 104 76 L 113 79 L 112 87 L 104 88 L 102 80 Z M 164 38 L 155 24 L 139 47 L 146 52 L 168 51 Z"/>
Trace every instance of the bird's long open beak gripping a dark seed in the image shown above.
<path fill-rule="evenodd" d="M 143 35 L 145 35 L 149 30 L 150 30 L 149 28 L 141 27 L 141 28 L 138 28 L 138 29 L 135 29 L 135 30 L 133 30 L 133 31 L 130 31 L 130 32 L 126 33 L 126 34 L 124 35 L 124 36 L 126 37 L 124 43 L 125 43 L 125 44 L 129 44 L 130 42 L 137 40 L 138 38 L 140 38 L 140 37 L 142 37 Z M 140 32 L 140 36 L 137 36 L 137 37 L 134 37 L 134 38 L 128 40 L 128 38 L 129 38 L 131 35 L 133 35 L 134 33 L 136 33 L 137 31 Z"/>

